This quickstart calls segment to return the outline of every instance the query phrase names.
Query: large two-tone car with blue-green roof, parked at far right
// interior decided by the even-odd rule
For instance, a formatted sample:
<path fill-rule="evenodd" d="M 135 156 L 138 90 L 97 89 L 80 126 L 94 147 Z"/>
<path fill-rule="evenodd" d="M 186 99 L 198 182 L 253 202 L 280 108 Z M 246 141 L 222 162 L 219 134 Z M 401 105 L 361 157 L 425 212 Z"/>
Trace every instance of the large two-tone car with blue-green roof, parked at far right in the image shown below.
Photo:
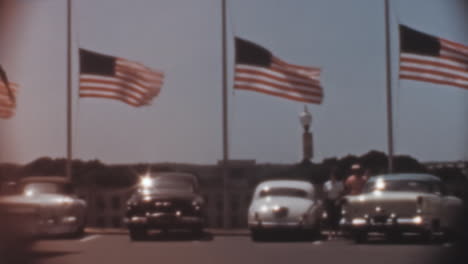
<path fill-rule="evenodd" d="M 430 241 L 436 233 L 457 232 L 462 210 L 462 200 L 447 195 L 433 175 L 387 174 L 370 178 L 362 194 L 345 197 L 340 225 L 356 242 L 370 232 L 389 239 L 416 232 Z"/>

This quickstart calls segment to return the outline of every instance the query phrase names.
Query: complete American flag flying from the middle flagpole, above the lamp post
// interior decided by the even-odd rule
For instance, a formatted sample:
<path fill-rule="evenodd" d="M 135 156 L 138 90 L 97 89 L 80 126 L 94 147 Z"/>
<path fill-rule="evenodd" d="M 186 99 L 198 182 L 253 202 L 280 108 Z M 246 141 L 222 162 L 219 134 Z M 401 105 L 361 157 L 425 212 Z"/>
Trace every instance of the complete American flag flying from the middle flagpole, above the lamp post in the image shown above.
<path fill-rule="evenodd" d="M 234 88 L 289 100 L 320 104 L 320 69 L 289 64 L 270 51 L 236 38 Z"/>

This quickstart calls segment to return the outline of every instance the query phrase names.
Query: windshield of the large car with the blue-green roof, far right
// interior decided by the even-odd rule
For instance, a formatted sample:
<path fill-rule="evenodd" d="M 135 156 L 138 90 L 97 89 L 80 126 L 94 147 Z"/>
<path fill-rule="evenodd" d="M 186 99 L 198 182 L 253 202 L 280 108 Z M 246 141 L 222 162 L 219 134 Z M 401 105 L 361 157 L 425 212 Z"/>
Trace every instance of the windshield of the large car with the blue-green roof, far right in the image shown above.
<path fill-rule="evenodd" d="M 434 182 L 418 180 L 383 180 L 377 179 L 366 184 L 364 192 L 373 191 L 393 191 L 393 192 L 440 192 L 440 187 Z"/>

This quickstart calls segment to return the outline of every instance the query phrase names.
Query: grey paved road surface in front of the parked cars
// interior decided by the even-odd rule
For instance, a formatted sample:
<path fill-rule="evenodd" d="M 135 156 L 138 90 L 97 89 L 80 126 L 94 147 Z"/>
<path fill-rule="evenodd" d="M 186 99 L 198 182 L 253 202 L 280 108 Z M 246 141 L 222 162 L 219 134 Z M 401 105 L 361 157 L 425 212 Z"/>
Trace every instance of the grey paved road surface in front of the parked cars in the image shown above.
<path fill-rule="evenodd" d="M 34 245 L 34 264 L 146 264 L 146 263 L 433 263 L 450 244 L 418 241 L 389 244 L 373 240 L 364 245 L 331 241 L 252 242 L 246 236 L 202 239 L 177 234 L 132 242 L 126 235 L 87 235 L 75 240 L 45 240 Z"/>

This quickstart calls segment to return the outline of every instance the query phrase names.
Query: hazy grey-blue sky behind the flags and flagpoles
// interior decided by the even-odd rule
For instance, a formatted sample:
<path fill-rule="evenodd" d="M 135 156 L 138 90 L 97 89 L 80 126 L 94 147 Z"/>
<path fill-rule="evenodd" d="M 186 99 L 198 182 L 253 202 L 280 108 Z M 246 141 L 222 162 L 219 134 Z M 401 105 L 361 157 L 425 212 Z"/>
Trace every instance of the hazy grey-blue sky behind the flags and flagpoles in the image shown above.
<path fill-rule="evenodd" d="M 0 161 L 62 157 L 66 1 L 0 6 L 0 63 L 20 84 L 0 120 Z M 397 80 L 398 23 L 468 45 L 464 0 L 391 2 L 395 151 L 423 161 L 468 159 L 468 91 Z M 222 157 L 220 0 L 75 0 L 74 156 L 109 163 L 215 163 Z M 325 99 L 310 105 L 315 159 L 386 151 L 383 0 L 228 0 L 229 82 L 234 35 L 294 64 L 323 69 Z M 78 47 L 166 73 L 152 106 L 77 99 Z M 303 104 L 229 90 L 232 159 L 301 159 Z"/>

